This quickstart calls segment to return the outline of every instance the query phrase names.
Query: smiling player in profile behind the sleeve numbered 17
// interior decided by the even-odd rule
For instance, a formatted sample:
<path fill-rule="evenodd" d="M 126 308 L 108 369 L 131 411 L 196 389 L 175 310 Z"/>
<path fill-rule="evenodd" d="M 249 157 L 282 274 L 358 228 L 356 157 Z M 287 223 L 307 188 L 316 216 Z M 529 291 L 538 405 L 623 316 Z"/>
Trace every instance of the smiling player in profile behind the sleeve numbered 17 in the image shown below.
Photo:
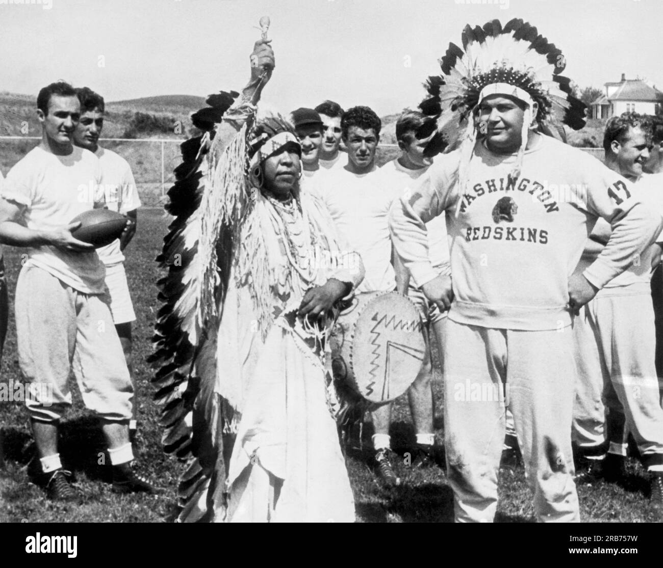
<path fill-rule="evenodd" d="M 663 199 L 659 197 L 663 183 L 657 179 L 661 176 L 642 174 L 649 146 L 646 117 L 624 113 L 607 122 L 603 138 L 605 165 L 633 181 L 640 197 L 663 213 Z M 595 260 L 610 234 L 609 224 L 597 221 L 576 271 Z M 573 437 L 581 454 L 579 462 L 587 466 L 580 481 L 619 481 L 626 475 L 625 434 L 630 431 L 642 463 L 650 472 L 652 502 L 663 508 L 663 409 L 656 377 L 650 296 L 651 273 L 660 262 L 660 242 L 659 236 L 633 266 L 607 283 L 576 322 L 573 336 L 578 381 Z"/>

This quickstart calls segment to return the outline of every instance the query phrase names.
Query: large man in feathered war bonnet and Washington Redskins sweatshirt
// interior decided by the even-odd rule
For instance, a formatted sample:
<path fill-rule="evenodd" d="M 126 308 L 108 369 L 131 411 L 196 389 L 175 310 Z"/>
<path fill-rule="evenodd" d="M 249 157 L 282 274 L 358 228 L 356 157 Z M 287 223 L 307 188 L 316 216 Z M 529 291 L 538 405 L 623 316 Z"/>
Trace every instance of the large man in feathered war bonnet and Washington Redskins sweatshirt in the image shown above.
<path fill-rule="evenodd" d="M 391 210 L 394 247 L 414 285 L 451 307 L 444 349 L 445 443 L 458 521 L 492 521 L 505 408 L 514 416 L 539 521 L 577 521 L 571 425 L 573 315 L 623 272 L 663 224 L 631 183 L 535 132 L 584 124 L 560 50 L 514 19 L 466 26 L 420 108 L 435 116 L 431 166 Z M 425 133 L 422 133 L 425 134 Z M 481 136 L 477 136 L 481 134 Z M 428 255 L 425 223 L 447 213 L 452 275 Z M 572 275 L 598 217 L 612 235 Z"/>

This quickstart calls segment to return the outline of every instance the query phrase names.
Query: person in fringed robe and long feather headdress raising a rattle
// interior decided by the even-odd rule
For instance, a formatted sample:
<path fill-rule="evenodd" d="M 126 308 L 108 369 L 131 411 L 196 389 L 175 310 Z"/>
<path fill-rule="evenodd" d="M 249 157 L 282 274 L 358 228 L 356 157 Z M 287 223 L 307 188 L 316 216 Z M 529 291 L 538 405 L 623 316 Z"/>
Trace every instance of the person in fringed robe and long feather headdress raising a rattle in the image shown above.
<path fill-rule="evenodd" d="M 212 95 L 192 117 L 206 134 L 182 144 L 168 192 L 152 362 L 164 449 L 190 457 L 179 520 L 353 522 L 325 344 L 363 263 L 300 191 L 292 124 L 256 116 L 265 34 L 251 61 L 236 102 Z"/>

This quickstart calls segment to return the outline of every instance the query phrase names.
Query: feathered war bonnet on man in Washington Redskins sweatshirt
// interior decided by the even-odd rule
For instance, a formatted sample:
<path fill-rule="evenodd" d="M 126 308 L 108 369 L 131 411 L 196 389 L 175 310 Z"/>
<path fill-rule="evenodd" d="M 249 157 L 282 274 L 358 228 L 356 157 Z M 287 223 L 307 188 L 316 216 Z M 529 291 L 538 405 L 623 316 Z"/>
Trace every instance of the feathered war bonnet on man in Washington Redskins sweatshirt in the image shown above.
<path fill-rule="evenodd" d="M 536 28 L 512 19 L 503 28 L 499 20 L 481 26 L 465 26 L 463 48 L 453 43 L 440 59 L 441 75 L 426 81 L 430 97 L 419 105 L 435 121 L 422 128 L 420 137 L 436 133 L 426 154 L 461 148 L 458 179 L 466 191 L 469 161 L 477 139 L 475 112 L 489 95 L 508 95 L 526 103 L 522 142 L 511 175 L 520 175 L 527 132 L 532 119 L 544 126 L 567 124 L 573 130 L 585 126 L 585 105 L 571 95 L 570 79 L 560 75 L 566 67 L 562 52 L 538 34 Z M 538 104 L 532 117 L 532 103 Z"/>

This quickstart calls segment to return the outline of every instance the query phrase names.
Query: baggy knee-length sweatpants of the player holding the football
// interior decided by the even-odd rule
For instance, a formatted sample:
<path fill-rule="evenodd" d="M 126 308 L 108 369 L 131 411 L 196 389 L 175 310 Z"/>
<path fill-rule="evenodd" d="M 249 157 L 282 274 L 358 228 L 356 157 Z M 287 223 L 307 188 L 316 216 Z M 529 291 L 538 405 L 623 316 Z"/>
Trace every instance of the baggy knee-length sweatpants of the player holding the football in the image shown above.
<path fill-rule="evenodd" d="M 76 291 L 26 265 L 16 285 L 15 312 L 21 373 L 31 388 L 40 387 L 25 401 L 30 418 L 60 420 L 72 404 L 72 370 L 87 408 L 105 420 L 131 418 L 133 387 L 105 297 Z"/>

